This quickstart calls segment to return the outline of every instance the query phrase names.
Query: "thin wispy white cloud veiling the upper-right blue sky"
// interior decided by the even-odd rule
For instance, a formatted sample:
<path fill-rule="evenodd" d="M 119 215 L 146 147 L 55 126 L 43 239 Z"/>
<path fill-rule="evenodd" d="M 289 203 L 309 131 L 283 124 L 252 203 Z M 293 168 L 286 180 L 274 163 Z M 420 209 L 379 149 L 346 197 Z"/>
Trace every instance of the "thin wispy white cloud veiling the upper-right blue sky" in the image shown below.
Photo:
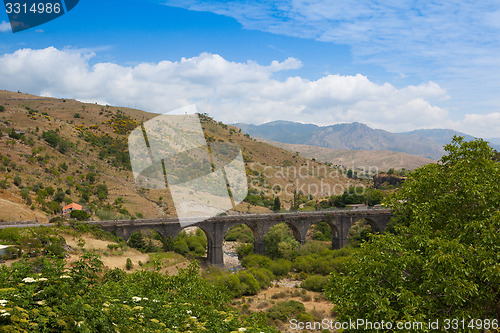
<path fill-rule="evenodd" d="M 232 17 L 246 29 L 348 45 L 356 64 L 375 64 L 404 73 L 413 82 L 434 81 L 446 87 L 454 97 L 449 106 L 462 116 L 498 111 L 497 0 L 161 3 Z"/>

